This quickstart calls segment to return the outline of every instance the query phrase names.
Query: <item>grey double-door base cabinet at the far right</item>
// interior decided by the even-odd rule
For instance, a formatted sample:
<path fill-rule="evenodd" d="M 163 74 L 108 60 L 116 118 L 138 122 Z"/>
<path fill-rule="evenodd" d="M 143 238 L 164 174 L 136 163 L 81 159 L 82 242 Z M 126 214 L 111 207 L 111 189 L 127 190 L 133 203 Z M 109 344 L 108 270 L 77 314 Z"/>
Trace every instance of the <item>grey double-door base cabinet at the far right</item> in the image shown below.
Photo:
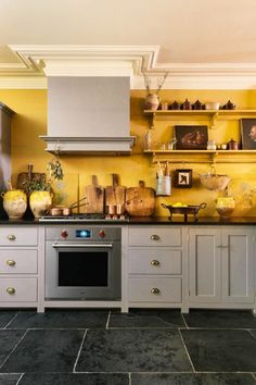
<path fill-rule="evenodd" d="M 188 266 L 189 307 L 254 307 L 253 227 L 190 228 Z"/>

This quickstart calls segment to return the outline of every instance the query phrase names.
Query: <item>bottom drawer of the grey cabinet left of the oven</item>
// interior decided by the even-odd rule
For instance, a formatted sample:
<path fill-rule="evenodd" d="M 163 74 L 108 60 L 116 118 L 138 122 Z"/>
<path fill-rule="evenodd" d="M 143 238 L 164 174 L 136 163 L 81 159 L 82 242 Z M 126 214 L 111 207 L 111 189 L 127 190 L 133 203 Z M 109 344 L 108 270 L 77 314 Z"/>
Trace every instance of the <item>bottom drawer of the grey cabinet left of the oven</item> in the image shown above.
<path fill-rule="evenodd" d="M 37 278 L 1 278 L 0 302 L 35 302 Z"/>

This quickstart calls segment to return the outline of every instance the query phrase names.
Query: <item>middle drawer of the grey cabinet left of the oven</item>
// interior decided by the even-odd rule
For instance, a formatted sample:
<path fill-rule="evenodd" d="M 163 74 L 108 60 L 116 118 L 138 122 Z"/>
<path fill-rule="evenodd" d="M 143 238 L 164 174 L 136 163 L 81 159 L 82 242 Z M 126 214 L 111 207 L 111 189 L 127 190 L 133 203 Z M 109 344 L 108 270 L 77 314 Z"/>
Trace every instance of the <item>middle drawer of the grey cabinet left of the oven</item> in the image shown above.
<path fill-rule="evenodd" d="M 0 275 L 24 273 L 37 273 L 37 250 L 0 249 Z"/>

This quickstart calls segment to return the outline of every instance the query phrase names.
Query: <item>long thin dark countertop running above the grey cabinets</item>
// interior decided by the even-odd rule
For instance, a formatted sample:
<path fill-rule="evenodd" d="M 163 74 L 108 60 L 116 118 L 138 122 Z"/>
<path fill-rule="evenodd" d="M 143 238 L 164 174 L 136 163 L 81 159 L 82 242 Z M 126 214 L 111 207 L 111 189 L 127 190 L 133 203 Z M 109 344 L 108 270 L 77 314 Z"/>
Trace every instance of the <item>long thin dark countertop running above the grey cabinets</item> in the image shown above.
<path fill-rule="evenodd" d="M 256 224 L 256 216 L 231 216 L 230 219 L 222 220 L 219 216 L 199 216 L 197 221 L 191 216 L 184 222 L 181 215 L 174 216 L 170 221 L 168 216 L 138 216 L 138 218 L 130 218 L 129 221 L 84 221 L 84 222 L 40 222 L 33 218 L 22 219 L 22 220 L 9 220 L 9 219 L 0 219 L 0 226 L 1 225 L 77 225 L 77 224 L 90 224 L 90 225 L 193 225 L 193 226 L 201 226 L 201 225 L 254 225 Z"/>

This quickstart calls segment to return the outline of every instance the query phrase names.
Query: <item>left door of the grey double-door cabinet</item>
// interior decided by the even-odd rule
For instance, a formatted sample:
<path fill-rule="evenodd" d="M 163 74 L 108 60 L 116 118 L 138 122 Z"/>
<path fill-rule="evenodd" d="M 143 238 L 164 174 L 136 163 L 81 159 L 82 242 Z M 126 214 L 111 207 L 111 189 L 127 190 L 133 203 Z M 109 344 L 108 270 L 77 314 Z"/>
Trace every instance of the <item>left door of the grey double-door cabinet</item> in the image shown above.
<path fill-rule="evenodd" d="M 189 301 L 217 303 L 221 300 L 220 231 L 189 232 Z"/>

